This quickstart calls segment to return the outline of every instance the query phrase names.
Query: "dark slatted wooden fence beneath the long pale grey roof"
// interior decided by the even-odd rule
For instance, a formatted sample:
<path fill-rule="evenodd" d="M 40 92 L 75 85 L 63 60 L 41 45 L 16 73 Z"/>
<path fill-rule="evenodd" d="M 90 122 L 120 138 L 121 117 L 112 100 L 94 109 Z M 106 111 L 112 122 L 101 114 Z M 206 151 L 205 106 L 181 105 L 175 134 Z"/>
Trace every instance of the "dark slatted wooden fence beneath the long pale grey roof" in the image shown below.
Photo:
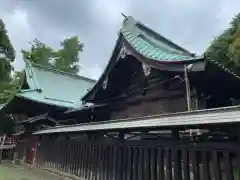
<path fill-rule="evenodd" d="M 240 180 L 240 144 L 43 139 L 36 163 L 87 180 Z"/>

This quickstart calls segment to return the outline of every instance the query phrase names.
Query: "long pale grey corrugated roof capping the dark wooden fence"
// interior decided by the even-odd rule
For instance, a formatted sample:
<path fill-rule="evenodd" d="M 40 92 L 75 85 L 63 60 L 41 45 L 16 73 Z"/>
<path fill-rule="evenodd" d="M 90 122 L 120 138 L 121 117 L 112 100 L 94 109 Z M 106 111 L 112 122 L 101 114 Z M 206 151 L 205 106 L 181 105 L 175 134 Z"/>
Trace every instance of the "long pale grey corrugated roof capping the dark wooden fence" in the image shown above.
<path fill-rule="evenodd" d="M 93 122 L 71 126 L 56 126 L 43 129 L 34 134 L 110 131 L 137 128 L 163 128 L 176 126 L 199 126 L 206 124 L 240 123 L 240 106 L 174 113 L 135 119 L 123 119 L 105 122 Z"/>

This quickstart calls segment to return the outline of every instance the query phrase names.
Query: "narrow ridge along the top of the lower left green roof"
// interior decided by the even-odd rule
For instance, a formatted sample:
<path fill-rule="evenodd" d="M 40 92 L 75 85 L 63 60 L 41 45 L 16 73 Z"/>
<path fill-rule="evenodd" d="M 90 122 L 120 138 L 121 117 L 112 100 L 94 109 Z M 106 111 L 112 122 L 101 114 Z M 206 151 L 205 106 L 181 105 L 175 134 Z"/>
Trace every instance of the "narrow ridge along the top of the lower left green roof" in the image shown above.
<path fill-rule="evenodd" d="M 78 79 L 83 79 L 83 80 L 87 80 L 87 81 L 91 81 L 91 82 L 96 82 L 96 80 L 91 79 L 89 77 L 85 77 L 85 76 L 82 76 L 82 75 L 80 76 L 80 75 L 69 73 L 69 72 L 64 72 L 62 70 L 51 68 L 51 67 L 46 67 L 46 66 L 43 66 L 43 65 L 40 65 L 40 64 L 36 64 L 34 62 L 30 62 L 29 60 L 24 60 L 24 61 L 25 61 L 26 67 L 41 68 L 43 70 L 51 71 L 51 72 L 58 73 L 58 74 L 61 74 L 61 75 L 66 75 L 66 76 L 70 76 L 70 77 L 74 77 L 74 78 L 78 78 Z"/>

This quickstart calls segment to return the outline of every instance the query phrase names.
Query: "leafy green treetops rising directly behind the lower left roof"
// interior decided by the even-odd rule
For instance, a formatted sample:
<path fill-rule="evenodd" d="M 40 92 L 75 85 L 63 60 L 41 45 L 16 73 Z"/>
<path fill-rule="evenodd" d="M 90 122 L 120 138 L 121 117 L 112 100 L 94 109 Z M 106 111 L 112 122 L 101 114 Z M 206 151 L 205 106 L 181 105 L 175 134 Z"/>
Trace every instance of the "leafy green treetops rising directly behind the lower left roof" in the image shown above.
<path fill-rule="evenodd" d="M 63 40 L 58 50 L 53 50 L 37 39 L 30 44 L 30 50 L 22 50 L 24 59 L 45 67 L 78 73 L 79 53 L 83 50 L 83 44 L 77 36 Z"/>

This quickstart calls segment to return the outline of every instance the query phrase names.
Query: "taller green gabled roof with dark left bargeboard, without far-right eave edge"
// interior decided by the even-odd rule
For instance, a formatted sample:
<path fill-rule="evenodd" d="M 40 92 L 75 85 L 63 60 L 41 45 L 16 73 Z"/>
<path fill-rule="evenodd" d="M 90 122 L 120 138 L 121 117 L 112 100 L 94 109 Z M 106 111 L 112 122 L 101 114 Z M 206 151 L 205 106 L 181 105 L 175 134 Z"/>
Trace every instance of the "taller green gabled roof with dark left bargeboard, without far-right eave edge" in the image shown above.
<path fill-rule="evenodd" d="M 144 61 L 147 60 L 149 66 L 152 67 L 156 67 L 156 63 L 158 65 L 166 63 L 182 65 L 197 61 L 204 62 L 203 56 L 194 56 L 194 54 L 136 21 L 133 17 L 126 16 L 107 67 L 95 86 L 82 98 L 83 101 L 92 99 L 99 85 L 107 78 L 114 64 L 120 58 L 124 48 L 141 57 Z"/>

